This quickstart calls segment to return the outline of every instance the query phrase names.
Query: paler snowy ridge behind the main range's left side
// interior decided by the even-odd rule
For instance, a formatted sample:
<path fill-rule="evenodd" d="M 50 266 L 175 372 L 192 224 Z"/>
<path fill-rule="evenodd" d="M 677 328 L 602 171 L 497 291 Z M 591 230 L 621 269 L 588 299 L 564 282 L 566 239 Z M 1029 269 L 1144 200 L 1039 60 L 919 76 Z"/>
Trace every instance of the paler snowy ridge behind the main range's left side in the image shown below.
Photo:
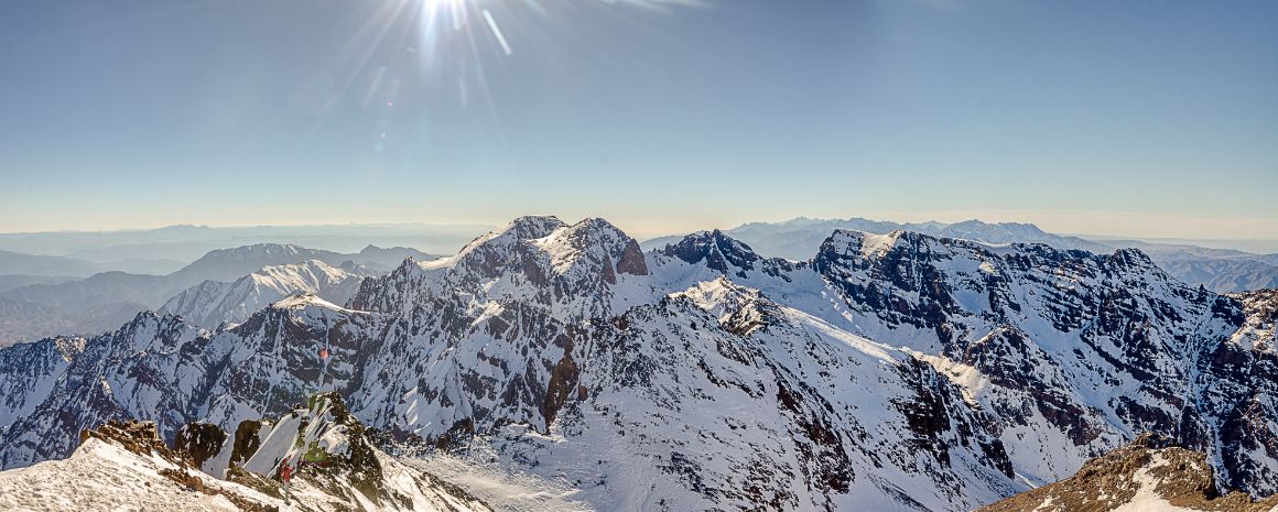
<path fill-rule="evenodd" d="M 158 313 L 215 328 L 222 322 L 242 323 L 257 310 L 294 294 L 311 294 L 345 303 L 364 277 L 374 275 L 355 264 L 332 267 L 318 259 L 266 267 L 235 282 L 204 281 L 169 299 Z"/>

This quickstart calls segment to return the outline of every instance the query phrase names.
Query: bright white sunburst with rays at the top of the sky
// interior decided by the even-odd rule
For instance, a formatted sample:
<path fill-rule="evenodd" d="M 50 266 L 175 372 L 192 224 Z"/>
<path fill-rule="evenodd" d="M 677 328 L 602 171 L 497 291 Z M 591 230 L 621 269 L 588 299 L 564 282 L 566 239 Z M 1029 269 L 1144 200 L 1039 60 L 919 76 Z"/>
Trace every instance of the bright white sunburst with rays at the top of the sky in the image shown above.
<path fill-rule="evenodd" d="M 520 41 L 532 43 L 565 34 L 562 13 L 599 10 L 604 19 L 626 11 L 674 13 L 679 8 L 705 8 L 703 0 L 386 0 L 362 18 L 363 29 L 340 52 L 354 73 L 337 94 L 358 94 L 360 106 L 376 117 L 371 133 L 377 151 L 390 151 L 387 132 L 403 123 L 392 119 L 420 116 L 429 132 L 432 112 L 482 109 L 489 117 L 497 146 L 501 119 L 489 88 L 489 73 L 504 68 L 502 59 L 518 59 Z M 576 15 L 574 19 L 583 19 Z M 507 73 L 497 74 L 501 78 Z M 390 139 L 394 139 L 391 137 Z"/>

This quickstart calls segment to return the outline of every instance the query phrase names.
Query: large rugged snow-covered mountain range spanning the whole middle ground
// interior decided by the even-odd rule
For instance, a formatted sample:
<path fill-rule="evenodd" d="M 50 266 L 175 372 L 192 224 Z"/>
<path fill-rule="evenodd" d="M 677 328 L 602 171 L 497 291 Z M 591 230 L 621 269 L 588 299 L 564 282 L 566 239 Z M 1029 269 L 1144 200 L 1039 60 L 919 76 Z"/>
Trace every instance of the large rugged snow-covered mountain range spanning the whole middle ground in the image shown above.
<path fill-rule="evenodd" d="M 606 511 L 971 509 L 1146 430 L 1270 494 L 1274 301 L 1139 250 L 835 231 L 791 262 L 524 217 L 345 306 L 291 296 L 212 332 L 144 313 L 0 350 L 0 463 L 112 418 L 231 432 L 331 389 L 394 439 L 478 447 Z"/>

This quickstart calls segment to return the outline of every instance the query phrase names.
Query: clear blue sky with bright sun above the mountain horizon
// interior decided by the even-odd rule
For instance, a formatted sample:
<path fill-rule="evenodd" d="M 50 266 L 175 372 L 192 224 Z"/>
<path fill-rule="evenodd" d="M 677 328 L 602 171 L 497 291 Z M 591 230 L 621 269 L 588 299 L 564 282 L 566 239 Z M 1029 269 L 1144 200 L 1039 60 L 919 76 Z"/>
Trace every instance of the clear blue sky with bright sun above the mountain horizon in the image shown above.
<path fill-rule="evenodd" d="M 1273 1 L 0 3 L 0 231 L 1278 240 L 1274 27 Z"/>

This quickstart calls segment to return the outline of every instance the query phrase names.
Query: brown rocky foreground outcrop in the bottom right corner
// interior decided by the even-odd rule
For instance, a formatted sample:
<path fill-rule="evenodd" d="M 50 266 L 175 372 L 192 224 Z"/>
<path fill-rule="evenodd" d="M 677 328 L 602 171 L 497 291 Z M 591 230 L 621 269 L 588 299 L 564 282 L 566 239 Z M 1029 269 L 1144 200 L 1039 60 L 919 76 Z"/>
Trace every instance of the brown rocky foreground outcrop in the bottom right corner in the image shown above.
<path fill-rule="evenodd" d="M 1103 512 L 1120 507 L 1269 512 L 1278 497 L 1254 499 L 1222 493 L 1206 457 L 1144 434 L 1131 444 L 1088 461 L 1074 476 L 1017 494 L 978 512 Z"/>

